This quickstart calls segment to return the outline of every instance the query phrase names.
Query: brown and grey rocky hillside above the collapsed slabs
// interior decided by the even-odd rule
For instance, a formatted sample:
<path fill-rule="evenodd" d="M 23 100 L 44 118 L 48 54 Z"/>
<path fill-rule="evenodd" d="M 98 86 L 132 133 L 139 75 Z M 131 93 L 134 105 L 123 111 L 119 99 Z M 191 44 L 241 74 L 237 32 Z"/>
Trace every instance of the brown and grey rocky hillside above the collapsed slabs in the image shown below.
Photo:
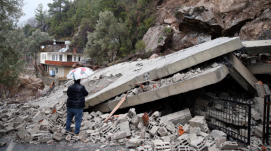
<path fill-rule="evenodd" d="M 270 39 L 270 9 L 268 0 L 160 0 L 156 26 L 143 38 L 145 50 L 179 51 L 223 36 L 240 36 L 241 40 Z M 165 26 L 173 29 L 171 34 L 165 35 Z"/>

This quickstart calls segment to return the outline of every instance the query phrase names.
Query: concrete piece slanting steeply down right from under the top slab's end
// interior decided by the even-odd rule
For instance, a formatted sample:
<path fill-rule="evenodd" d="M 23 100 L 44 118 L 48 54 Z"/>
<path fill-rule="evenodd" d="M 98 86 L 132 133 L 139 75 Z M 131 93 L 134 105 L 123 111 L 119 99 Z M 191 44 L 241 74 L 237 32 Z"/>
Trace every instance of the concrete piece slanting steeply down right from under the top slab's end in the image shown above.
<path fill-rule="evenodd" d="M 238 84 L 247 90 L 249 93 L 256 93 L 254 84 L 258 81 L 254 75 L 247 70 L 241 61 L 233 54 L 229 53 L 229 62 L 233 65 L 233 67 L 229 68 L 230 76 L 233 77 L 237 81 Z"/>

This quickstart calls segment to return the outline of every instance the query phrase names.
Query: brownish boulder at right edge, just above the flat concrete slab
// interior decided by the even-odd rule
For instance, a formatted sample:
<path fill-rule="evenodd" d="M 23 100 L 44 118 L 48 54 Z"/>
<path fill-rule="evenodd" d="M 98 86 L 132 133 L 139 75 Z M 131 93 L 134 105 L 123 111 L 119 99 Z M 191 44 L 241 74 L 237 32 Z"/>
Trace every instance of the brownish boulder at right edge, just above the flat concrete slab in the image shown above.
<path fill-rule="evenodd" d="M 271 39 L 271 11 L 265 8 L 251 22 L 247 22 L 241 31 L 240 38 L 242 40 L 268 40 Z"/>

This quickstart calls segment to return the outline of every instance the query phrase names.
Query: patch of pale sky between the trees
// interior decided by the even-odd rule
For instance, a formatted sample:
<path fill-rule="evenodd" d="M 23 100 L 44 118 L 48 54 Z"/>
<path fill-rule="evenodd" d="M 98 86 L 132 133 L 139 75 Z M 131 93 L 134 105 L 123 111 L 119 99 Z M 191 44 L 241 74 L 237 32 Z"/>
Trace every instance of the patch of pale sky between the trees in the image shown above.
<path fill-rule="evenodd" d="M 35 9 L 38 7 L 38 3 L 43 3 L 43 10 L 49 10 L 49 7 L 47 6 L 47 3 L 52 3 L 53 0 L 24 0 L 24 8 L 22 10 L 24 11 L 24 16 L 22 16 L 19 20 L 19 22 L 23 22 L 24 20 L 27 20 L 31 17 L 35 16 Z"/>

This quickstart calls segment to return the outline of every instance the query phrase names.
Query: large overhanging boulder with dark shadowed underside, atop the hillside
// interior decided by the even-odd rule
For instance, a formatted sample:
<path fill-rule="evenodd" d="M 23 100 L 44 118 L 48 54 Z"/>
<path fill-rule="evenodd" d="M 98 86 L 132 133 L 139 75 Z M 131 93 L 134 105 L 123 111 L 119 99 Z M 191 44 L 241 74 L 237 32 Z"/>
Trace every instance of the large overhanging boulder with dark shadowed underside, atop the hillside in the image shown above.
<path fill-rule="evenodd" d="M 225 28 L 221 18 L 203 6 L 182 7 L 176 17 L 180 31 L 208 33 L 213 38 L 217 38 Z"/>

